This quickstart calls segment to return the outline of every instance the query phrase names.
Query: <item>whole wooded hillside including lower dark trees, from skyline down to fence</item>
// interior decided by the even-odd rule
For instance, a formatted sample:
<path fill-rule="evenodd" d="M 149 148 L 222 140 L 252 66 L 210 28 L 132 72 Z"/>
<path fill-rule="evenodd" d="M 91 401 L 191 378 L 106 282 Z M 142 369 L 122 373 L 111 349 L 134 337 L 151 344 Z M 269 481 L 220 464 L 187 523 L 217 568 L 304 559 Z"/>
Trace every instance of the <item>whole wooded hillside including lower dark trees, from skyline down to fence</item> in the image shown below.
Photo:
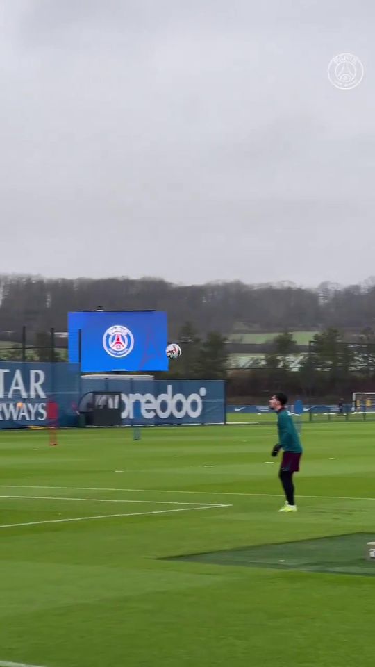
<path fill-rule="evenodd" d="M 240 282 L 179 286 L 161 279 L 43 279 L 0 277 L 1 338 L 19 343 L 22 327 L 41 349 L 28 359 L 49 361 L 47 331 L 66 331 L 67 312 L 156 309 L 167 311 L 169 338 L 183 345 L 183 356 L 162 377 L 228 380 L 229 400 L 265 399 L 283 388 L 291 395 L 349 400 L 351 392 L 375 390 L 375 281 L 316 290 L 281 283 L 249 286 Z M 262 368 L 227 373 L 226 337 L 235 322 L 249 331 L 283 331 L 268 346 Z M 292 370 L 297 351 L 290 331 L 318 330 L 313 345 Z M 362 332 L 356 345 L 342 331 Z M 42 349 L 42 347 L 46 349 Z M 20 359 L 19 349 L 3 359 Z M 63 353 L 60 357 L 63 359 Z"/>

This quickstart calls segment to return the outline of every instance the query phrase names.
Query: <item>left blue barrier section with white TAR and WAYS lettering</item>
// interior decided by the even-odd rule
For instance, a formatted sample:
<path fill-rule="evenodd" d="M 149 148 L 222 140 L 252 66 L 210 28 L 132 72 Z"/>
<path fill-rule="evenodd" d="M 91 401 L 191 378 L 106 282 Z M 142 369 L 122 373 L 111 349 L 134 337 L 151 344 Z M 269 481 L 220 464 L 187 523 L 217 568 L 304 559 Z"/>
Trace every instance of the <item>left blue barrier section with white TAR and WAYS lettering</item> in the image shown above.
<path fill-rule="evenodd" d="M 80 385 L 78 364 L 0 362 L 0 429 L 48 426 L 49 400 L 60 426 L 76 426 Z"/>

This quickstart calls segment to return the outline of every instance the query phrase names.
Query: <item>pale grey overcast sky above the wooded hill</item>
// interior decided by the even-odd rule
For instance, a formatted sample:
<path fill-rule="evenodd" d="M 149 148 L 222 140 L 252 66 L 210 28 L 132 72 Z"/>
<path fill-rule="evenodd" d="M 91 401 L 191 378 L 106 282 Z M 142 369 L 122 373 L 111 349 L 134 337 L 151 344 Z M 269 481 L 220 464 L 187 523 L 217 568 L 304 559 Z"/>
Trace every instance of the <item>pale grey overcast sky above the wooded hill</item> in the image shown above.
<path fill-rule="evenodd" d="M 375 274 L 374 19 L 372 0 L 2 0 L 0 273 Z M 363 63 L 350 90 L 328 81 L 340 53 Z"/>

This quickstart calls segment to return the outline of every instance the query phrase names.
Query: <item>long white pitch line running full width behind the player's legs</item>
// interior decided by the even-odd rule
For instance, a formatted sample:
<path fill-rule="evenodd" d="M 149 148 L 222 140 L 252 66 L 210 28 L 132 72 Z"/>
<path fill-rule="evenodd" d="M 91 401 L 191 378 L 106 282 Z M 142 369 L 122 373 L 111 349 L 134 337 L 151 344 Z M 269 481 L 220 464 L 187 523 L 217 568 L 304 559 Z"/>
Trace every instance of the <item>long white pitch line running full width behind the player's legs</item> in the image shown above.
<path fill-rule="evenodd" d="M 113 488 L 103 486 L 29 486 L 26 484 L 0 484 L 0 488 L 58 488 L 65 491 L 134 491 L 135 493 L 194 493 L 196 495 L 241 495 L 249 497 L 281 498 L 282 493 L 241 493 L 240 491 L 181 491 L 171 488 Z M 314 500 L 375 500 L 375 498 L 352 497 L 348 495 L 301 495 L 299 498 Z M 190 503 L 189 503 L 190 504 Z"/>

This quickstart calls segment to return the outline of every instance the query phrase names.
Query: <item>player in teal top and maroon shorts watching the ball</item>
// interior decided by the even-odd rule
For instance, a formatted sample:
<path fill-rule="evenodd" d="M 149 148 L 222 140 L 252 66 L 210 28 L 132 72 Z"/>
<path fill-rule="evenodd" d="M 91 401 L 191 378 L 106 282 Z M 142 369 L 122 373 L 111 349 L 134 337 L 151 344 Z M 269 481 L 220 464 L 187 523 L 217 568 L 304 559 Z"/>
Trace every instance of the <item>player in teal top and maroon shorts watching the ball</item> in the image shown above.
<path fill-rule="evenodd" d="M 297 512 L 294 501 L 294 472 L 299 472 L 299 461 L 302 456 L 301 440 L 294 426 L 294 421 L 286 409 L 288 396 L 282 392 L 274 394 L 269 401 L 269 407 L 277 413 L 278 443 L 272 449 L 272 456 L 277 456 L 283 450 L 278 477 L 283 485 L 285 504 L 279 512 Z"/>

